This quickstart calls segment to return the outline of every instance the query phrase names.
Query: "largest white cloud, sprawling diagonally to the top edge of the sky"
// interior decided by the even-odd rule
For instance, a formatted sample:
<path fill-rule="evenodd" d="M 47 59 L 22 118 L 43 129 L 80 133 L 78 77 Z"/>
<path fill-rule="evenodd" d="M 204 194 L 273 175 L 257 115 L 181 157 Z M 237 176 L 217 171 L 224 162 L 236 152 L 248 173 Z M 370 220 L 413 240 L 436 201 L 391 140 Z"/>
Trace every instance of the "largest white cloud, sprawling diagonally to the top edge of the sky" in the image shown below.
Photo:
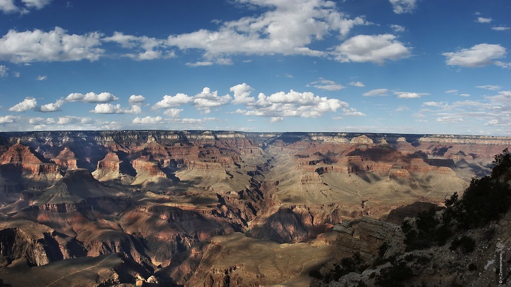
<path fill-rule="evenodd" d="M 363 17 L 350 19 L 337 11 L 335 3 L 324 0 L 261 1 L 238 0 L 255 6 L 259 15 L 246 16 L 223 22 L 217 31 L 198 30 L 172 35 L 168 44 L 181 50 L 204 51 L 204 62 L 225 55 L 310 55 L 324 56 L 322 51 L 311 50 L 308 45 L 331 34 L 346 36 L 355 25 L 368 25 Z"/>

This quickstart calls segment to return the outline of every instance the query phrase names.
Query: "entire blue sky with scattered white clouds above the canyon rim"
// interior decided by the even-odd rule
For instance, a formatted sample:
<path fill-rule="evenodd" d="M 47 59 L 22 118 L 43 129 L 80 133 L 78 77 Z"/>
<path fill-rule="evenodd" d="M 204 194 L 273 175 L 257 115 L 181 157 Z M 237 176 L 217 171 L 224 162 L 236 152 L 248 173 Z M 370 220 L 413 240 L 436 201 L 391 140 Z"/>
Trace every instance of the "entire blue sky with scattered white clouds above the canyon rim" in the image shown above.
<path fill-rule="evenodd" d="M 511 136 L 511 3 L 0 0 L 0 131 Z"/>

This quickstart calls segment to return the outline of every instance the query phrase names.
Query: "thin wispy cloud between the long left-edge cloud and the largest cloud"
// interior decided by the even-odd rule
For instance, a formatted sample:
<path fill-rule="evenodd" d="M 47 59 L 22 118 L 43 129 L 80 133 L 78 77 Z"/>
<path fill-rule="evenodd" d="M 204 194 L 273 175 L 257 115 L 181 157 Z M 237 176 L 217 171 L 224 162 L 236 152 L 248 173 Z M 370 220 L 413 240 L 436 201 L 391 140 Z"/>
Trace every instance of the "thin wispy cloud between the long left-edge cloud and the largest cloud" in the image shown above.
<path fill-rule="evenodd" d="M 105 42 L 115 42 L 126 49 L 136 50 L 135 53 L 124 54 L 133 60 L 155 60 L 174 58 L 173 51 L 165 50 L 167 41 L 163 39 L 150 38 L 147 36 L 124 35 L 122 32 L 114 32 L 112 36 L 102 39 Z"/>

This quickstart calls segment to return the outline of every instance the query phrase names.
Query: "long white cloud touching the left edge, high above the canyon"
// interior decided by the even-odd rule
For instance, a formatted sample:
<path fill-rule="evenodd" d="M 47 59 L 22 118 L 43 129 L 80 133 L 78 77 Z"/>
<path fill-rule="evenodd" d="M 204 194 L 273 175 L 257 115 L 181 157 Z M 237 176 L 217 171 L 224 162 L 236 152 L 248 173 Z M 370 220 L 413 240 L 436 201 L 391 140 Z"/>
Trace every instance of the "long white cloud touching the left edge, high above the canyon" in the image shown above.
<path fill-rule="evenodd" d="M 17 32 L 9 30 L 0 39 L 0 60 L 13 63 L 33 61 L 96 61 L 103 55 L 98 46 L 101 34 L 69 35 L 62 28 Z"/>

